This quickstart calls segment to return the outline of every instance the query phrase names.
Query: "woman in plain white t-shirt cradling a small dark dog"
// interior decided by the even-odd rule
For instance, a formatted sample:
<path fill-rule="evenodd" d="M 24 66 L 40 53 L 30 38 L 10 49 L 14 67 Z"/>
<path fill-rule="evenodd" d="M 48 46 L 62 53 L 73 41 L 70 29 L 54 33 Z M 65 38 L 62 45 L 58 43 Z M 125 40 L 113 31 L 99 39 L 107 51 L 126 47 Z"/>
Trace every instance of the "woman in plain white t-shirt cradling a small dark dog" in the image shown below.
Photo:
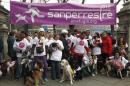
<path fill-rule="evenodd" d="M 59 38 L 59 34 L 54 35 L 54 42 L 49 45 L 53 50 L 50 56 L 52 80 L 60 78 L 60 61 L 62 59 L 62 50 L 64 49 L 64 46 Z"/>

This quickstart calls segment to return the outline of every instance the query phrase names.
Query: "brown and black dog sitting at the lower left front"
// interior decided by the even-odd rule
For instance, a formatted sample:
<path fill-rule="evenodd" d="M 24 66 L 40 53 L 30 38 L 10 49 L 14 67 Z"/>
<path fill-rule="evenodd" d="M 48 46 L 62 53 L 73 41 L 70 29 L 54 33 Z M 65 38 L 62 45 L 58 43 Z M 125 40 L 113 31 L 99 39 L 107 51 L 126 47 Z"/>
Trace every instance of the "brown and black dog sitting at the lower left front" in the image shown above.
<path fill-rule="evenodd" d="M 34 69 L 26 76 L 26 86 L 39 86 L 39 84 L 45 84 L 42 79 L 43 65 L 41 61 L 37 61 L 34 65 Z"/>

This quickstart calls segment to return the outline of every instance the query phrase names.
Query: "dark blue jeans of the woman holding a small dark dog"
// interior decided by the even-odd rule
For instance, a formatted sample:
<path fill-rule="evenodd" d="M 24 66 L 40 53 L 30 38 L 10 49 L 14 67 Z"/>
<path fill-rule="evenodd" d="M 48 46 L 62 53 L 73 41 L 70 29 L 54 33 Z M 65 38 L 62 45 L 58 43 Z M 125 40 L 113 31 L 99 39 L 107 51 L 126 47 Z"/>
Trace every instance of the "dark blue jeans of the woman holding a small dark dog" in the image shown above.
<path fill-rule="evenodd" d="M 59 79 L 60 78 L 60 62 L 51 60 L 51 78 Z"/>

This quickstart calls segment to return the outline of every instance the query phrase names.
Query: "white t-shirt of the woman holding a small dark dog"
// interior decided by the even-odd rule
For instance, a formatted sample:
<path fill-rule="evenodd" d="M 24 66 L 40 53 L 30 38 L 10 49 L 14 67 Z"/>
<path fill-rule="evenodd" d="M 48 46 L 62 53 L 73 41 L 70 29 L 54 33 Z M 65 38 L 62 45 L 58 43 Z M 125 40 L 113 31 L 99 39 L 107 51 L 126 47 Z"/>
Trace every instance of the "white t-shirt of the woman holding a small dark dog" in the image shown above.
<path fill-rule="evenodd" d="M 58 43 L 59 46 L 64 49 L 63 43 L 60 40 L 54 40 L 55 43 Z M 52 52 L 50 60 L 53 61 L 61 61 L 62 59 L 62 50 L 56 49 L 55 51 Z"/>

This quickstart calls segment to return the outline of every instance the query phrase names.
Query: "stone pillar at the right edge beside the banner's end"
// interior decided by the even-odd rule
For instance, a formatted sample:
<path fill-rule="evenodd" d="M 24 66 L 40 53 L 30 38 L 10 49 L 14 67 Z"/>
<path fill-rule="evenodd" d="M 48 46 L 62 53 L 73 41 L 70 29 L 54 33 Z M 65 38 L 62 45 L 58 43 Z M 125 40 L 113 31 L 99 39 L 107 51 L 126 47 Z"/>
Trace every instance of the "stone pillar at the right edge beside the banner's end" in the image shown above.
<path fill-rule="evenodd" d="M 123 8 L 117 14 L 119 18 L 118 36 L 124 36 L 128 43 L 128 53 L 130 56 L 130 0 L 126 1 Z"/>

